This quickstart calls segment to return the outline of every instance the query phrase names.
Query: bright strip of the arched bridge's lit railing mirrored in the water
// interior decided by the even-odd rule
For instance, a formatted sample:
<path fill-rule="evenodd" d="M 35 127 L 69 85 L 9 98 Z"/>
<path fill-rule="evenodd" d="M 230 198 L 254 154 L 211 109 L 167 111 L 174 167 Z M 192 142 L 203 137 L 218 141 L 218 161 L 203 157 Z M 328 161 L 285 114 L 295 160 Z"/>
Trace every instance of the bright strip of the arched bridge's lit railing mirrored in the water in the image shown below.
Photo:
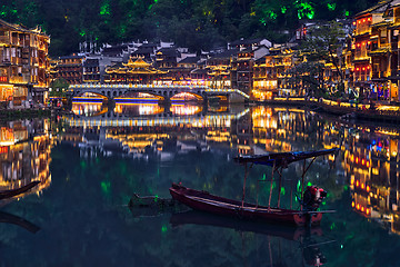
<path fill-rule="evenodd" d="M 98 117 L 71 116 L 66 121 L 71 127 L 133 127 L 133 126 L 178 126 L 191 125 L 192 127 L 224 126 L 230 127 L 232 119 L 239 119 L 248 113 L 249 109 L 240 113 L 204 115 L 204 116 L 171 116 L 160 113 L 149 117 L 129 117 L 108 112 Z"/>

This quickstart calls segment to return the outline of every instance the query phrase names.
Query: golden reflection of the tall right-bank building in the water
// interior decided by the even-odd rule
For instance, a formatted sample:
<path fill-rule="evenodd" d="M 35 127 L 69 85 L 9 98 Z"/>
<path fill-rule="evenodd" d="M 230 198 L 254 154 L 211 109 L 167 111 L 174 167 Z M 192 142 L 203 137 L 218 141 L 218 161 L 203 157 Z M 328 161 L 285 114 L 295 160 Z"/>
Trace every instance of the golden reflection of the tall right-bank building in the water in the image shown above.
<path fill-rule="evenodd" d="M 399 134 L 380 128 L 368 132 L 344 132 L 348 149 L 343 164 L 350 179 L 351 206 L 400 234 Z"/>

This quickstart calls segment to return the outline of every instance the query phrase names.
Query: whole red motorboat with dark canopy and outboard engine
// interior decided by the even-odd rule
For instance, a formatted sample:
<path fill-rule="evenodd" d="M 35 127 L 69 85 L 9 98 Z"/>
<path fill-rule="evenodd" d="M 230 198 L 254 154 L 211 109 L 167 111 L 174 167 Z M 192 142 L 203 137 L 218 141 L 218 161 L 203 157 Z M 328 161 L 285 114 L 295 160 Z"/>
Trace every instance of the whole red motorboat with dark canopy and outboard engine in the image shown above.
<path fill-rule="evenodd" d="M 322 219 L 322 214 L 334 212 L 334 210 L 318 210 L 322 199 L 327 197 L 327 192 L 322 188 L 316 186 L 308 186 L 303 189 L 304 175 L 311 167 L 314 159 L 319 156 L 336 152 L 337 149 L 327 149 L 320 151 L 300 151 L 300 152 L 279 152 L 260 156 L 239 156 L 236 161 L 244 165 L 244 180 L 242 200 L 233 200 L 219 196 L 211 195 L 207 191 L 200 191 L 187 188 L 182 185 L 172 184 L 170 194 L 173 199 L 189 206 L 192 209 L 202 210 L 211 214 L 238 217 L 247 220 L 261 220 L 268 222 L 289 224 L 298 226 L 316 226 Z M 312 158 L 307 166 L 306 160 Z M 283 209 L 280 208 L 280 189 L 278 192 L 278 207 L 271 207 L 272 184 L 274 172 L 279 174 L 279 187 L 281 187 L 282 169 L 287 168 L 289 164 L 304 160 L 303 172 L 301 179 L 301 196 L 300 209 Z M 260 206 L 257 204 L 249 204 L 244 201 L 246 180 L 248 175 L 248 164 L 266 165 L 272 167 L 272 178 L 270 184 L 270 195 L 268 206 Z M 250 167 L 251 167 L 250 166 Z M 258 188 L 259 186 L 257 186 Z"/>

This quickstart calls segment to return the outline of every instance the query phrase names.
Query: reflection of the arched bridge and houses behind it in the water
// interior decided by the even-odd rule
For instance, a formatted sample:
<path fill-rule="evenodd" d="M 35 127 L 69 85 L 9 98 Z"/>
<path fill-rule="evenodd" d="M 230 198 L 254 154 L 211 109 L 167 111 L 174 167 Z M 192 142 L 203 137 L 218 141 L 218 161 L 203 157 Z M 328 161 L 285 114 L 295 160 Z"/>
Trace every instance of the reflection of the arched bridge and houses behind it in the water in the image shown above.
<path fill-rule="evenodd" d="M 98 108 L 81 106 L 80 110 Z M 242 120 L 248 111 L 204 115 L 202 106 L 171 105 L 171 110 L 164 110 L 159 105 L 117 105 L 114 112 L 100 111 L 97 117 L 67 117 L 69 126 L 57 140 L 77 145 L 81 157 L 121 155 L 167 160 L 190 151 L 208 151 L 208 142 L 236 146 L 231 144 L 231 121 Z M 242 140 L 242 132 L 238 136 Z M 250 140 L 249 135 L 247 138 Z"/>

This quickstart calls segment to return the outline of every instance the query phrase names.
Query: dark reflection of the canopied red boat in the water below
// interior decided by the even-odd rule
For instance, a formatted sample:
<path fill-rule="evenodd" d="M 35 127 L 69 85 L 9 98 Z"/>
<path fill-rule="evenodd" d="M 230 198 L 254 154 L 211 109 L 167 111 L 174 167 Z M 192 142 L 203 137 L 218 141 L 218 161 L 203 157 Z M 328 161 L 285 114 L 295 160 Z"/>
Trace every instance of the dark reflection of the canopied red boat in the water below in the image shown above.
<path fill-rule="evenodd" d="M 248 238 L 246 235 L 260 235 L 260 237 L 266 237 L 268 250 L 266 249 L 264 255 L 268 254 L 268 258 L 259 257 L 262 258 L 263 261 L 268 261 L 270 266 L 297 266 L 301 263 L 309 266 L 322 266 L 327 264 L 327 258 L 320 247 L 326 244 L 334 243 L 334 240 L 327 239 L 323 236 L 322 229 L 319 227 L 310 229 L 266 225 L 253 221 L 239 221 L 237 219 L 196 210 L 173 214 L 170 218 L 170 224 L 173 228 L 194 225 L 209 226 L 214 229 L 233 229 L 242 239 L 243 245 Z M 272 247 L 276 251 L 272 251 Z M 291 247 L 289 254 L 288 251 L 282 251 L 282 249 L 287 249 L 288 247 Z M 260 250 L 261 248 L 262 247 L 259 247 L 257 250 Z M 243 250 L 247 249 L 248 248 L 243 247 Z M 286 257 L 276 257 L 277 255 L 282 256 L 283 254 L 286 254 Z"/>

